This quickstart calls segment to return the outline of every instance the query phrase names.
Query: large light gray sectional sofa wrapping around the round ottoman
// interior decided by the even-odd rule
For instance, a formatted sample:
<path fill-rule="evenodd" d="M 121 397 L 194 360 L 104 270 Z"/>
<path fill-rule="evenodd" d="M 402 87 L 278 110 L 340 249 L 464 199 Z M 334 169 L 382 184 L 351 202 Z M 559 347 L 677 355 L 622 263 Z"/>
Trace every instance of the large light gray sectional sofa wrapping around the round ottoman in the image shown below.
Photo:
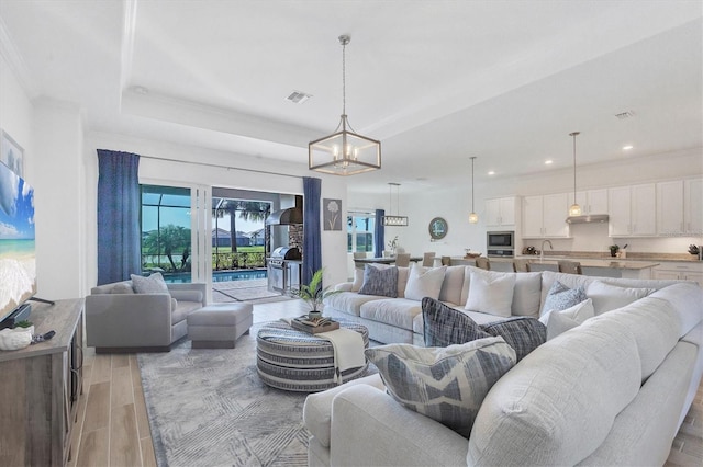
<path fill-rule="evenodd" d="M 440 299 L 483 322 L 506 318 L 465 309 L 471 270 L 462 280 L 458 270 L 445 273 L 453 287 L 461 285 L 443 286 Z M 535 300 L 524 282 L 535 280 L 517 273 L 513 298 L 523 301 L 513 299 L 511 312 L 536 309 L 537 317 L 559 281 L 591 291 L 595 316 L 500 377 L 468 440 L 403 407 L 372 375 L 308 397 L 309 464 L 662 465 L 703 373 L 703 289 L 687 282 L 536 274 L 539 304 L 524 306 Z M 422 344 L 420 301 L 360 296 L 352 284 L 341 288 L 348 291 L 330 297 L 326 314 L 367 324 L 372 339 Z"/>

